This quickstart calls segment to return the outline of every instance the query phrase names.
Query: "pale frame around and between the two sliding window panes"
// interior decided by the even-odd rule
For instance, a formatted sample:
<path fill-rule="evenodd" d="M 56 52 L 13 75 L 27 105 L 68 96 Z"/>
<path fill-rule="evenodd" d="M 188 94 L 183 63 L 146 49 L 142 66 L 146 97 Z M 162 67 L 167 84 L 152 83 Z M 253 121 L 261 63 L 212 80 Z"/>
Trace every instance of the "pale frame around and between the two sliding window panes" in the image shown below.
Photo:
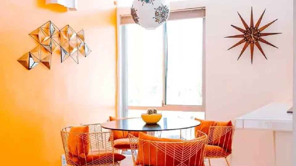
<path fill-rule="evenodd" d="M 190 9 L 181 9 L 182 11 L 194 10 Z M 160 111 L 197 111 L 205 112 L 206 109 L 206 96 L 205 96 L 205 8 L 203 10 L 203 50 L 202 50 L 202 105 L 193 106 L 193 105 L 167 105 L 165 101 L 165 31 L 163 30 L 163 99 L 160 107 L 153 107 Z M 126 17 L 128 14 L 119 14 L 117 13 L 117 116 L 126 117 L 127 110 L 146 110 L 151 106 L 128 106 L 127 100 L 127 52 L 126 52 L 126 26 L 121 26 L 121 18 Z M 164 25 L 165 27 L 165 25 Z"/>

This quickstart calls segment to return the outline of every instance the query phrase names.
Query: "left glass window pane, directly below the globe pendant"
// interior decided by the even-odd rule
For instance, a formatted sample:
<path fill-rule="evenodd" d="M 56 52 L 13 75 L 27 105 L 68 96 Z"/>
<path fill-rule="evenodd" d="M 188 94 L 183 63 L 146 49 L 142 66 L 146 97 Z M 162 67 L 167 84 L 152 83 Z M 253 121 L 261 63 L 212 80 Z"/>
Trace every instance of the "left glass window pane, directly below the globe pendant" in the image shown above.
<path fill-rule="evenodd" d="M 161 106 L 163 26 L 156 30 L 125 26 L 128 105 Z"/>

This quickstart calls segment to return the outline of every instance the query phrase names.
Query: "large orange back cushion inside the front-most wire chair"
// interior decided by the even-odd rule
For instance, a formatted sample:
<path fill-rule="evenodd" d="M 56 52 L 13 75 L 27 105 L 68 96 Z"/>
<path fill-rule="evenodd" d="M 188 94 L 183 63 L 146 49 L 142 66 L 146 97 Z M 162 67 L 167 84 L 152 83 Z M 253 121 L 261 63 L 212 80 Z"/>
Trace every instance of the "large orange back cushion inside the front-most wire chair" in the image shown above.
<path fill-rule="evenodd" d="M 196 138 L 195 140 L 202 138 L 206 138 L 206 136 Z M 192 142 L 178 139 L 157 138 L 142 132 L 139 133 L 139 139 L 141 140 L 139 140 L 139 156 L 137 163 L 140 165 L 175 166 L 179 165 L 181 160 L 183 160 L 182 165 L 201 166 L 204 164 L 204 157 L 201 155 L 204 152 L 204 147 L 201 147 L 201 149 L 196 152 L 196 147 L 195 150 L 191 148 Z M 151 142 L 149 144 L 149 141 L 146 140 L 157 141 L 157 144 Z M 164 142 L 171 143 L 166 144 Z M 186 158 L 186 156 L 188 156 L 188 158 Z"/>

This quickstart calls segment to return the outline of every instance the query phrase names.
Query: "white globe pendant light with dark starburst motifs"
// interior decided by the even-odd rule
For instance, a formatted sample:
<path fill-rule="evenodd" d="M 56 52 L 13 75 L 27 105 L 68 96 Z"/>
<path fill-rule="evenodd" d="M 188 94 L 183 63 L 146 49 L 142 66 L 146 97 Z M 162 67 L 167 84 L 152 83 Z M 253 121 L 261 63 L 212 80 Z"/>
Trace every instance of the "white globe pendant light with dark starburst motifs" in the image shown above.
<path fill-rule="evenodd" d="M 147 30 L 154 30 L 170 16 L 168 0 L 134 0 L 131 7 L 134 22 Z"/>

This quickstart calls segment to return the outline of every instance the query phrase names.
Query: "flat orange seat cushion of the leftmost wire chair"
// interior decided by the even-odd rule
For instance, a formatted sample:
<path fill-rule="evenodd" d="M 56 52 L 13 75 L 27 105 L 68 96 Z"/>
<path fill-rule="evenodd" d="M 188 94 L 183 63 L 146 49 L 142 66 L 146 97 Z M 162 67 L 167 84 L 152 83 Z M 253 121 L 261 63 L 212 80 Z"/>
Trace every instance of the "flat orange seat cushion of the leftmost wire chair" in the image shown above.
<path fill-rule="evenodd" d="M 113 153 L 98 153 L 98 154 L 90 154 L 86 156 L 86 158 L 80 158 L 77 156 L 69 155 L 70 160 L 75 165 L 101 165 L 101 164 L 112 164 L 113 163 Z M 125 156 L 114 153 L 114 162 L 124 160 Z"/>

